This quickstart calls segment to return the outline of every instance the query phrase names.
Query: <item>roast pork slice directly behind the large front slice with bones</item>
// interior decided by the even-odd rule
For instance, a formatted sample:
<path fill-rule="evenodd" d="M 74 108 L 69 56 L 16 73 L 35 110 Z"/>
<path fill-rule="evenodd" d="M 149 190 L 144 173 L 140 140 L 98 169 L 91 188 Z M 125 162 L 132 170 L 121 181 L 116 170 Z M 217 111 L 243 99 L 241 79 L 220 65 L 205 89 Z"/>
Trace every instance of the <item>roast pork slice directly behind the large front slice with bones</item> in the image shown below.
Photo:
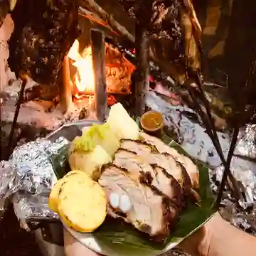
<path fill-rule="evenodd" d="M 167 161 L 168 168 L 168 160 L 165 156 L 163 156 L 163 158 L 163 160 Z M 114 154 L 113 164 L 120 168 L 127 169 L 130 177 L 144 182 L 149 186 L 154 186 L 161 191 L 161 193 L 164 193 L 170 201 L 176 203 L 178 207 L 181 207 L 182 190 L 176 178 L 169 174 L 164 168 L 161 168 L 161 166 L 154 168 L 147 160 L 146 158 L 138 156 L 135 152 L 127 149 L 118 149 L 116 154 Z"/>

